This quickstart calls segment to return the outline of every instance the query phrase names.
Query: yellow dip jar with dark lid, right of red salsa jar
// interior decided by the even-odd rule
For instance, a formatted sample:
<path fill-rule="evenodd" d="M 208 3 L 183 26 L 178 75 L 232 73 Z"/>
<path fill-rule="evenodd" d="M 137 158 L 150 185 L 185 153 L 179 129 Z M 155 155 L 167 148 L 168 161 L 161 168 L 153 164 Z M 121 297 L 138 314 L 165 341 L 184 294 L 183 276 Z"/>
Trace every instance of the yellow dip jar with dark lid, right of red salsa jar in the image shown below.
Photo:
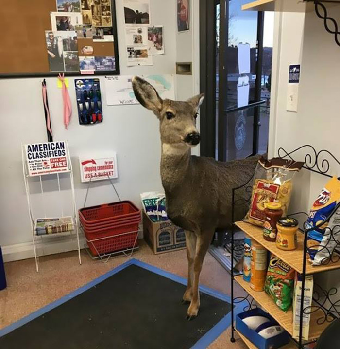
<path fill-rule="evenodd" d="M 281 218 L 277 224 L 276 246 L 281 250 L 295 250 L 299 222 L 294 218 Z"/>

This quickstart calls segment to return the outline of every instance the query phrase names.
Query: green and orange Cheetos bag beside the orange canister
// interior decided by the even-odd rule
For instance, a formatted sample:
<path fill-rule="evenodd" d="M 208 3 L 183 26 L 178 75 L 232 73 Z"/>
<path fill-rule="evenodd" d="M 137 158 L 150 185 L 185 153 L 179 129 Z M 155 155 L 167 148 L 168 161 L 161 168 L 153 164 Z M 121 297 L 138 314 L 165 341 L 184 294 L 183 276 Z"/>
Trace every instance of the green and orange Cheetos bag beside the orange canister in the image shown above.
<path fill-rule="evenodd" d="M 287 312 L 292 303 L 295 270 L 280 258 L 271 255 L 264 290 L 275 304 Z"/>

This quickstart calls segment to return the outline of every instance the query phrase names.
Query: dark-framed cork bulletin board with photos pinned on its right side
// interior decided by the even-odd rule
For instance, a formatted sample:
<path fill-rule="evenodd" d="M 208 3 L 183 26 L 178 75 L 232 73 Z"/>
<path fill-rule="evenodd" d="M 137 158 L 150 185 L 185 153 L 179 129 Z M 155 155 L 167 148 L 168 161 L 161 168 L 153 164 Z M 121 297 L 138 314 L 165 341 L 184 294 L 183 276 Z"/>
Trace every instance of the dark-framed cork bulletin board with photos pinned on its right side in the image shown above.
<path fill-rule="evenodd" d="M 10 0 L 1 17 L 0 77 L 119 74 L 115 0 Z"/>

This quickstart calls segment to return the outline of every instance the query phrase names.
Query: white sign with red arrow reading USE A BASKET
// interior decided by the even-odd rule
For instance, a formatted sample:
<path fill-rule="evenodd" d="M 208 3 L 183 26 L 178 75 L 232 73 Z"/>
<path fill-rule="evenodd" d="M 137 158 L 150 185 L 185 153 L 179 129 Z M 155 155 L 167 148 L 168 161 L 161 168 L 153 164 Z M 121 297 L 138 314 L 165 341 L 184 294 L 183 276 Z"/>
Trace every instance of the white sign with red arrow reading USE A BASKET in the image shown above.
<path fill-rule="evenodd" d="M 79 157 L 82 182 L 118 178 L 117 155 L 107 157 Z"/>

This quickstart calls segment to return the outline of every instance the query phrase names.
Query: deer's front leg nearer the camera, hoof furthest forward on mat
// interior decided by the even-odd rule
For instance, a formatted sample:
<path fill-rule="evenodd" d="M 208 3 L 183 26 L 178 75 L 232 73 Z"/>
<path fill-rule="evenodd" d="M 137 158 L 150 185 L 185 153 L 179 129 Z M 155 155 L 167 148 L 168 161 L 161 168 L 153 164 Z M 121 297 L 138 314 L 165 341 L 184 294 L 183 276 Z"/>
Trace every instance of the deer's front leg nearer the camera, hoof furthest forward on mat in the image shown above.
<path fill-rule="evenodd" d="M 208 251 L 213 233 L 214 232 L 211 232 L 211 234 L 210 232 L 205 232 L 205 234 L 202 233 L 197 238 L 196 254 L 194 258 L 194 282 L 192 286 L 192 299 L 187 310 L 187 320 L 189 321 L 197 316 L 198 310 L 200 309 L 200 274 L 202 270 L 203 260 L 206 252 Z"/>

